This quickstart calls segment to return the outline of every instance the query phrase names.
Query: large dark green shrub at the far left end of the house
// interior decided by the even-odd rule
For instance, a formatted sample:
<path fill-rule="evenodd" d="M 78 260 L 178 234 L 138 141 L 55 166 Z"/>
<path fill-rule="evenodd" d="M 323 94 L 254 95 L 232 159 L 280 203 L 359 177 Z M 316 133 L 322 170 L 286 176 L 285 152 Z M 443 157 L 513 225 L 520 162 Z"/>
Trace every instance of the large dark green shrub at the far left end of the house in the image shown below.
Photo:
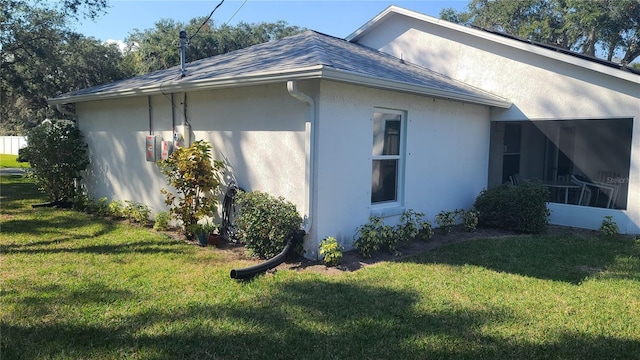
<path fill-rule="evenodd" d="M 78 128 L 68 122 L 36 126 L 27 133 L 22 155 L 29 159 L 29 176 L 52 201 L 72 200 L 81 172 L 89 166 L 87 145 Z"/>

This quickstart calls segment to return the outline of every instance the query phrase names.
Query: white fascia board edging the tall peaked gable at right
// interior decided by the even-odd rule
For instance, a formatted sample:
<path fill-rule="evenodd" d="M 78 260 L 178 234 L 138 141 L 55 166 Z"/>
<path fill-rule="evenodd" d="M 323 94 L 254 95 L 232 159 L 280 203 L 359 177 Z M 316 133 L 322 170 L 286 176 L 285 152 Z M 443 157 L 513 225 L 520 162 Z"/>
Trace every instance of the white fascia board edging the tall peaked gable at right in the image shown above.
<path fill-rule="evenodd" d="M 458 31 L 461 33 L 465 33 L 471 36 L 475 36 L 477 38 L 481 38 L 481 39 L 485 39 L 488 41 L 492 41 L 494 43 L 499 43 L 505 46 L 509 46 L 515 49 L 520 49 L 523 51 L 527 51 L 530 52 L 532 54 L 536 54 L 536 55 L 540 55 L 540 56 L 544 56 L 553 60 L 558 60 L 558 61 L 562 61 L 562 62 L 566 62 L 575 66 L 579 66 L 585 69 L 589 69 L 592 71 L 596 71 L 596 72 L 600 72 L 609 76 L 613 76 L 613 77 L 617 77 L 623 80 L 627 80 L 627 81 L 631 81 L 634 82 L 636 84 L 640 84 L 640 75 L 636 75 L 634 73 L 631 72 L 626 72 L 626 71 L 621 71 L 619 69 L 617 69 L 617 71 L 611 71 L 611 70 L 616 70 L 613 69 L 609 66 L 606 65 L 602 65 L 602 64 L 598 64 L 596 62 L 593 61 L 589 61 L 589 60 L 585 60 L 585 59 L 580 59 L 577 58 L 575 56 L 571 56 L 571 55 L 567 55 L 567 54 L 563 54 L 561 52 L 557 52 L 557 51 L 553 51 L 553 50 L 549 50 L 549 49 L 545 49 L 543 47 L 537 46 L 537 45 L 533 45 L 533 44 L 528 44 L 526 42 L 522 42 L 522 41 L 518 41 L 518 40 L 513 40 L 513 39 L 509 39 L 506 38 L 504 36 L 500 36 L 500 35 L 496 35 L 496 34 L 492 34 L 490 32 L 487 31 L 482 31 L 482 30 L 477 30 L 477 29 L 472 29 L 463 25 L 459 25 L 459 24 L 455 24 L 446 20 L 442 20 L 442 19 L 438 19 L 429 15 L 425 15 L 425 14 L 421 14 L 412 10 L 407 10 L 395 5 L 391 5 L 388 8 L 386 8 L 383 12 L 381 12 L 380 14 L 378 14 L 378 16 L 374 17 L 373 19 L 371 19 L 370 21 L 368 21 L 366 24 L 364 24 L 363 26 L 361 26 L 360 28 L 358 28 L 356 31 L 354 31 L 351 35 L 346 37 L 347 41 L 350 42 L 357 42 L 361 37 L 365 36 L 366 34 L 368 34 L 369 32 L 373 31 L 375 28 L 377 28 L 380 24 L 382 24 L 382 22 L 384 22 L 384 19 L 388 16 L 391 16 L 393 14 L 399 14 L 399 15 L 403 15 L 403 16 L 407 16 L 407 17 L 411 17 L 414 18 L 416 20 L 419 21 L 423 21 L 423 22 L 427 22 L 430 24 L 434 24 L 437 26 L 441 26 L 447 29 L 451 29 L 454 31 Z"/>

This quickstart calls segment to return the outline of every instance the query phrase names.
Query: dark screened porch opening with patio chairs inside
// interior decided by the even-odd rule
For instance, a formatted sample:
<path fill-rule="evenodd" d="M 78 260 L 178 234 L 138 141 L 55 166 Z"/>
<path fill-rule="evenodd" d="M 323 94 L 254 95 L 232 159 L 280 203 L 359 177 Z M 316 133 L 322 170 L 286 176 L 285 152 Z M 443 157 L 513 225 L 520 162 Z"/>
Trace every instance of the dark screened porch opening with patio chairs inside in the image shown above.
<path fill-rule="evenodd" d="M 550 202 L 626 209 L 631 119 L 492 122 L 489 184 L 540 181 Z"/>

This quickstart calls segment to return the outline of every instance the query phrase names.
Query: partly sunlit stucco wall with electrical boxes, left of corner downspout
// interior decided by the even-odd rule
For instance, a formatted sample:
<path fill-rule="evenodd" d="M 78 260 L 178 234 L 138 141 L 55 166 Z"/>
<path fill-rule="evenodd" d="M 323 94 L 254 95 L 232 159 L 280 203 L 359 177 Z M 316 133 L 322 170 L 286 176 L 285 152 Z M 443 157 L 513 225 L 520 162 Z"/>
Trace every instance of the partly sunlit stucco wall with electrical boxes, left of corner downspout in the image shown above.
<path fill-rule="evenodd" d="M 184 94 L 151 97 L 151 132 L 172 139 L 172 117 L 183 124 Z M 299 210 L 305 203 L 305 121 L 303 103 L 286 84 L 187 94 L 191 141 L 204 139 L 226 164 L 223 183 L 284 196 Z M 139 201 L 165 210 L 160 189 L 167 187 L 154 162 L 145 158 L 149 130 L 147 97 L 80 103 L 79 126 L 92 157 L 85 177 L 96 197 Z"/>

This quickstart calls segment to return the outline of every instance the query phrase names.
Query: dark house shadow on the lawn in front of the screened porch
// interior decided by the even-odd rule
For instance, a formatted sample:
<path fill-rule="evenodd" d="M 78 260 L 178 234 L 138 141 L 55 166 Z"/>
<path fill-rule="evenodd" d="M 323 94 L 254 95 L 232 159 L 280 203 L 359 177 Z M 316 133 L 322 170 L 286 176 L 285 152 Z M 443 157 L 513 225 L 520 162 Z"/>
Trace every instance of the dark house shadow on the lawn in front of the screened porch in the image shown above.
<path fill-rule="evenodd" d="M 640 242 L 631 237 L 532 235 L 452 244 L 405 261 L 476 265 L 577 285 L 596 274 L 640 281 L 639 258 Z"/>

